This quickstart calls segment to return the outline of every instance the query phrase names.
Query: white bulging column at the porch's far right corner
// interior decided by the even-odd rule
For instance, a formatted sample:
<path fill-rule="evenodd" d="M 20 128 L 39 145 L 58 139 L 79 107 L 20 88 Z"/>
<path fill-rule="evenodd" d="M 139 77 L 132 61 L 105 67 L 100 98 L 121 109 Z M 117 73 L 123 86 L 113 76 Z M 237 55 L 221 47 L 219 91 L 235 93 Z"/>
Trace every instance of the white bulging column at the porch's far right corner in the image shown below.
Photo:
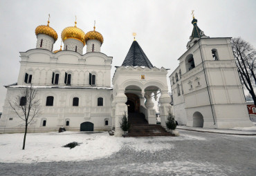
<path fill-rule="evenodd" d="M 167 90 L 161 90 L 161 97 L 159 99 L 160 101 L 160 117 L 161 117 L 161 126 L 163 128 L 166 128 L 165 121 L 167 121 L 168 117 L 168 111 L 171 110 L 171 97 L 168 94 Z"/>

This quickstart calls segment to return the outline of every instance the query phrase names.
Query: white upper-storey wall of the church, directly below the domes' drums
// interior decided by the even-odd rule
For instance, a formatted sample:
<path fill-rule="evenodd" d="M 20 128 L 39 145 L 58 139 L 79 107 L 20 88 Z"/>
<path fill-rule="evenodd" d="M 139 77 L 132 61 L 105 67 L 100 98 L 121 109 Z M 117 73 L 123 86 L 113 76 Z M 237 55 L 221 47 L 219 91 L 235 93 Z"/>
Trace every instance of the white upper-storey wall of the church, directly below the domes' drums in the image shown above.
<path fill-rule="evenodd" d="M 76 52 L 60 51 L 56 54 L 45 50 L 29 50 L 21 53 L 21 68 L 19 70 L 18 85 L 26 85 L 26 72 L 33 75 L 32 84 L 40 86 L 54 86 L 53 72 L 60 74 L 59 86 L 65 86 L 65 72 L 71 74 L 71 86 L 89 85 L 89 72 L 96 75 L 95 86 L 111 86 L 111 61 L 102 53 L 88 53 L 79 55 Z"/>

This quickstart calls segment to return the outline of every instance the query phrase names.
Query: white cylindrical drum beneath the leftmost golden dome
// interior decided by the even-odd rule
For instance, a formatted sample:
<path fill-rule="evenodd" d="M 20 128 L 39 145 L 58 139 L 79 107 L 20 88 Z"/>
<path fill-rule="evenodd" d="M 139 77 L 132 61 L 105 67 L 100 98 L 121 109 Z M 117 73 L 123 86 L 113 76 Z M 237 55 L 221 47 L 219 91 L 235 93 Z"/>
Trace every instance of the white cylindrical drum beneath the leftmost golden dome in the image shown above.
<path fill-rule="evenodd" d="M 41 40 L 43 40 L 42 47 L 41 46 Z M 55 40 L 53 37 L 50 37 L 48 35 L 39 34 L 37 35 L 37 46 L 36 48 L 46 49 L 53 51 L 53 43 L 55 43 Z"/>

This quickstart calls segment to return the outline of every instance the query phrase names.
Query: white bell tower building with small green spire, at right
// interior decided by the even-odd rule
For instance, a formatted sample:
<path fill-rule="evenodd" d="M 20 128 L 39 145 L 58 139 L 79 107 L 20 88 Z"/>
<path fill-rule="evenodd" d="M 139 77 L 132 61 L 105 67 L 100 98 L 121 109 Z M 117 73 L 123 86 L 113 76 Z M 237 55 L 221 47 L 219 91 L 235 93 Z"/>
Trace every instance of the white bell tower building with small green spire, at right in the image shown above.
<path fill-rule="evenodd" d="M 170 75 L 179 124 L 203 128 L 253 126 L 235 65 L 230 37 L 205 36 L 192 20 L 187 51 Z"/>

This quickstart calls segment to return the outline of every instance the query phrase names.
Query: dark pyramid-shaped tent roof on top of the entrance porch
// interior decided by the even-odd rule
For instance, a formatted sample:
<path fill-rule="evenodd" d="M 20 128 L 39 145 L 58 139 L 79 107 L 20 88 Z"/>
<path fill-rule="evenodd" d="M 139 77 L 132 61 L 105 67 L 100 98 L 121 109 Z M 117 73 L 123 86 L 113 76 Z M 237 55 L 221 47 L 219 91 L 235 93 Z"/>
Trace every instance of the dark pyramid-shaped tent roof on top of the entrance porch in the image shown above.
<path fill-rule="evenodd" d="M 122 63 L 122 66 L 145 66 L 148 68 L 154 68 L 137 41 L 134 41 L 131 44 L 131 48 L 125 57 L 125 61 Z"/>

